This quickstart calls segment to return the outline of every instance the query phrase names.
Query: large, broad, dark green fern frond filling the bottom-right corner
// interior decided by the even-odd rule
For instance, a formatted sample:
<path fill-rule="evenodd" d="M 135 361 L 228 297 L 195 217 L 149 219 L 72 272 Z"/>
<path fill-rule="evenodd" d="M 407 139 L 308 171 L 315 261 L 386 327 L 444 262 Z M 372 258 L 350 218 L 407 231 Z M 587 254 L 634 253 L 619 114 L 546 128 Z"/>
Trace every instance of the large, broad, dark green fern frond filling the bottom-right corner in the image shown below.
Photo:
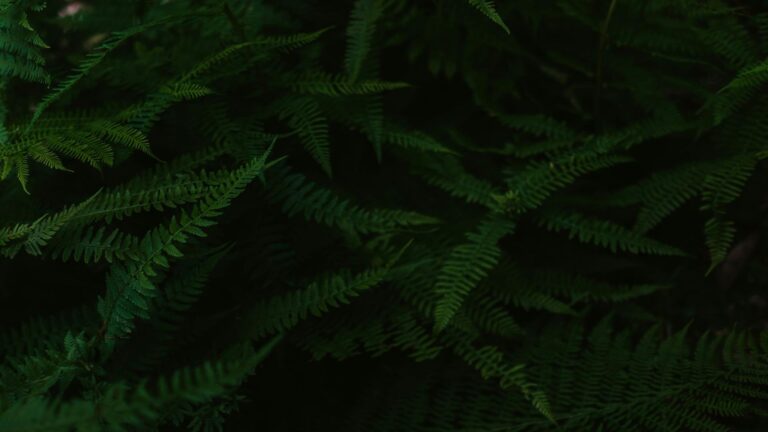
<path fill-rule="evenodd" d="M 743 412 L 748 400 L 762 403 L 768 397 L 761 390 L 765 351 L 754 342 L 747 343 L 743 333 L 705 335 L 691 353 L 685 330 L 662 338 L 658 328 L 652 328 L 631 347 L 627 335 L 614 335 L 607 321 L 586 338 L 555 326 L 531 353 L 548 365 L 533 371 L 532 379 L 545 391 L 569 395 L 553 406 L 564 430 L 594 430 L 600 425 L 638 431 L 728 430 L 718 414 Z M 739 339 L 741 346 L 736 345 Z M 566 348 L 585 342 L 587 350 Z M 563 355 L 549 357 L 553 352 Z M 564 364 L 573 369 L 563 369 Z M 553 366 L 562 373 L 542 374 Z M 756 374 L 743 376 L 747 369 Z M 542 421 L 537 427 L 528 425 L 527 430 L 548 427 Z M 511 426 L 510 430 L 523 429 Z"/>

